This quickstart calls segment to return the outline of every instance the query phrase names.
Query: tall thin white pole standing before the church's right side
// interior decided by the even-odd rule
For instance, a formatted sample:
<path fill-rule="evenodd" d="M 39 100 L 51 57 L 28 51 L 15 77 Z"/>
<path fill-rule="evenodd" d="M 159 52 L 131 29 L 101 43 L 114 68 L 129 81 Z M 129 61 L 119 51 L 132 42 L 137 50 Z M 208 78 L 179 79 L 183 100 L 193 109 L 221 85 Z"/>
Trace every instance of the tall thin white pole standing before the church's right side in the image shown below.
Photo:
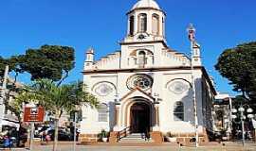
<path fill-rule="evenodd" d="M 195 28 L 191 24 L 188 27 L 189 40 L 191 41 L 191 71 L 192 71 L 192 102 L 193 102 L 193 112 L 194 112 L 194 132 L 195 132 L 195 146 L 199 146 L 199 135 L 198 135 L 198 117 L 197 117 L 197 102 L 195 93 L 195 83 L 193 76 L 193 47 L 195 46 Z"/>

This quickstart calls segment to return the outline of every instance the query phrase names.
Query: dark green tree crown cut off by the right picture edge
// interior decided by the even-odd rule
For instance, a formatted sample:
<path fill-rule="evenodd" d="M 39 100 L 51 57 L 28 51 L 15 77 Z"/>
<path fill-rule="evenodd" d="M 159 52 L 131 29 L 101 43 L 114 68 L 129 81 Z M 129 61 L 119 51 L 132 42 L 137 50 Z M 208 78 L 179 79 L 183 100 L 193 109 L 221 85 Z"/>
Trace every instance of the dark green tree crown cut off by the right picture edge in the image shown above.
<path fill-rule="evenodd" d="M 225 50 L 215 69 L 228 78 L 235 92 L 249 100 L 256 97 L 256 42 L 248 42 Z"/>

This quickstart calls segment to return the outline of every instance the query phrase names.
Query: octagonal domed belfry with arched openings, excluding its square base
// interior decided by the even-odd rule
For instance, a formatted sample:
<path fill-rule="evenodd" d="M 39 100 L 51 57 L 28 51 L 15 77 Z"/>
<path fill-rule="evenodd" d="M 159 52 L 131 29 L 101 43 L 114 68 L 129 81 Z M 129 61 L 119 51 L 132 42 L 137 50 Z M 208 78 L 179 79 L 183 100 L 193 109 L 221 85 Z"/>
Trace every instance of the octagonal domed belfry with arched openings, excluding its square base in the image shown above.
<path fill-rule="evenodd" d="M 128 27 L 125 42 L 165 40 L 165 12 L 155 0 L 139 0 L 127 13 Z"/>

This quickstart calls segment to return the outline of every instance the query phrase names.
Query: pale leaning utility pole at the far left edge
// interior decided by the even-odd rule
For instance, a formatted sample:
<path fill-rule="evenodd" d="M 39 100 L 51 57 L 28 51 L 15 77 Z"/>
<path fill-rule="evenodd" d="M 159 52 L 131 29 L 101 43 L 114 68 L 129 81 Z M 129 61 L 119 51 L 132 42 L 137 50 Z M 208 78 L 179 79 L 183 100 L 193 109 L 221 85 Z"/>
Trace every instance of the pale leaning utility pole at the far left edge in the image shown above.
<path fill-rule="evenodd" d="M 3 84 L 0 93 L 0 132 L 2 132 L 3 119 L 5 116 L 5 100 L 6 100 L 6 89 L 7 89 L 7 79 L 9 73 L 9 65 L 6 66 L 5 75 L 3 77 Z"/>

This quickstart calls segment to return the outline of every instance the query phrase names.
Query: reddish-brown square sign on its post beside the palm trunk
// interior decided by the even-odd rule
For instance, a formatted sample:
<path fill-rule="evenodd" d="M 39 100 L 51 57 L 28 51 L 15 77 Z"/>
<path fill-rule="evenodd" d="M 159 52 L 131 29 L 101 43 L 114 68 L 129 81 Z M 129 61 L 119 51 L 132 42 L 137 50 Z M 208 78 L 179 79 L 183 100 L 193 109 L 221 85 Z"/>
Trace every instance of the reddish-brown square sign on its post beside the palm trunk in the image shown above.
<path fill-rule="evenodd" d="M 24 122 L 31 125 L 29 150 L 33 150 L 35 123 L 44 122 L 44 117 L 45 109 L 43 107 L 28 107 L 24 109 Z"/>

